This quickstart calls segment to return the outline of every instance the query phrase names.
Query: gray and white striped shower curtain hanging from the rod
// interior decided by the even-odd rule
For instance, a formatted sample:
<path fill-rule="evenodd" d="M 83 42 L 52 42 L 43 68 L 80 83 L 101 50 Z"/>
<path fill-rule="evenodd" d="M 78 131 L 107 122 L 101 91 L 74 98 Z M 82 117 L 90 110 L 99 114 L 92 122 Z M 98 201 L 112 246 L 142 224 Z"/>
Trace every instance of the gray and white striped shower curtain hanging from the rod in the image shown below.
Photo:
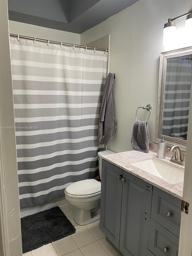
<path fill-rule="evenodd" d="M 97 178 L 107 53 L 10 38 L 20 207 Z"/>

